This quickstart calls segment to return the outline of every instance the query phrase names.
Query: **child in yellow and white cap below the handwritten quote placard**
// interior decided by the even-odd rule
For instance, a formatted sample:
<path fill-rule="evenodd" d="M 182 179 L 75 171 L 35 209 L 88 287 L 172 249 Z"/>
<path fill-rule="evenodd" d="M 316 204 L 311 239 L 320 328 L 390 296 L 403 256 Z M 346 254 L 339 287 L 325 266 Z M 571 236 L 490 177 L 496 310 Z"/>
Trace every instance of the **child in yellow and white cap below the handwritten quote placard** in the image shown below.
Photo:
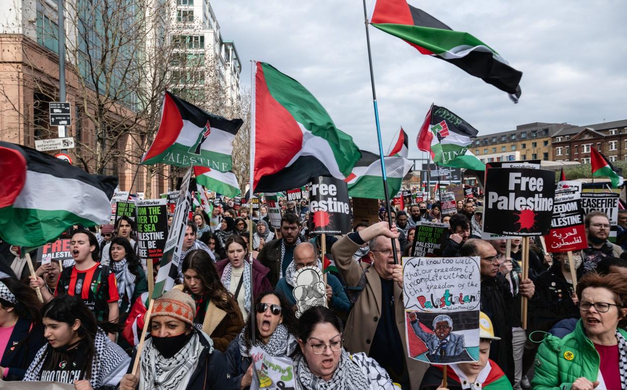
<path fill-rule="evenodd" d="M 424 373 L 421 390 L 510 390 L 509 379 L 497 364 L 489 359 L 490 342 L 495 337 L 492 321 L 483 312 L 479 313 L 479 361 L 450 364 L 446 370 L 446 387 L 442 386 L 444 366 L 433 365 Z"/>

